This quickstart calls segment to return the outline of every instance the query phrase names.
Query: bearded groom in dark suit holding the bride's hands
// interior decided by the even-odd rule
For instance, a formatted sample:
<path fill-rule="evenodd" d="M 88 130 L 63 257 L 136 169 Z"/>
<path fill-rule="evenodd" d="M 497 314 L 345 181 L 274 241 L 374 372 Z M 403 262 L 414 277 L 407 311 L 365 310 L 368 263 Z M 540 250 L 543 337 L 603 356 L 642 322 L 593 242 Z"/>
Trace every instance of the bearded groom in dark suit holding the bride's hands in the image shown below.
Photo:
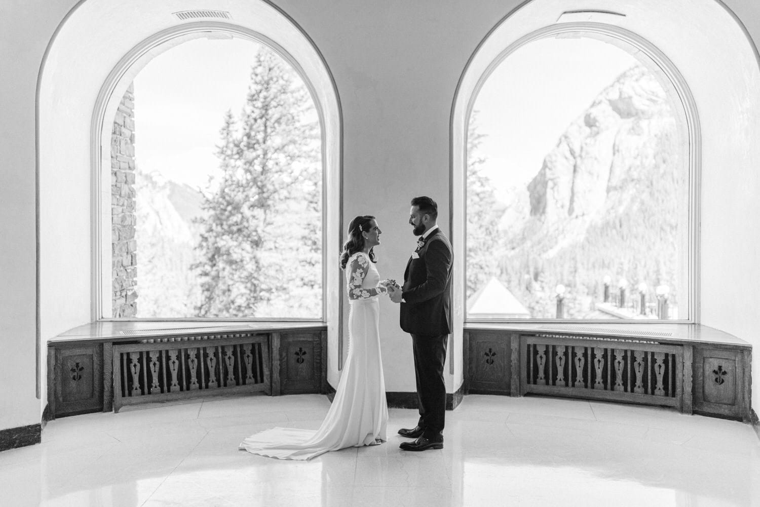
<path fill-rule="evenodd" d="M 438 204 L 429 197 L 411 201 L 409 223 L 421 236 L 407 262 L 404 287 L 389 287 L 394 303 L 401 303 L 401 329 L 412 335 L 414 372 L 420 420 L 413 429 L 399 429 L 404 451 L 443 448 L 446 385 L 443 365 L 451 332 L 451 243 L 436 224 Z"/>

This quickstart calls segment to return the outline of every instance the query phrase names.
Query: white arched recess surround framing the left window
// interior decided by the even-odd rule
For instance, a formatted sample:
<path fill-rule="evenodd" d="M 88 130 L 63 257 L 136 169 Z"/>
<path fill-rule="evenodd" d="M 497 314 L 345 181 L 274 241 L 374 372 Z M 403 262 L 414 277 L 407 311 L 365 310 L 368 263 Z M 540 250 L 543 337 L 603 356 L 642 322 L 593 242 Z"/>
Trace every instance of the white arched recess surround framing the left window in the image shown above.
<path fill-rule="evenodd" d="M 110 171 L 109 150 L 100 148 L 109 147 L 110 128 L 103 125 L 110 125 L 135 74 L 160 52 L 187 40 L 247 38 L 274 49 L 299 73 L 321 127 L 323 255 L 337 258 L 342 112 L 325 59 L 296 21 L 268 0 L 216 0 L 214 10 L 229 14 L 225 21 L 180 20 L 174 14 L 208 8 L 199 0 L 81 0 L 49 43 L 37 87 L 38 351 L 43 340 L 102 315 L 106 259 L 100 223 L 110 213 L 101 205 L 103 192 L 110 194 L 109 178 L 103 178 Z M 339 300 L 340 274 L 333 262 L 324 262 L 323 270 L 328 360 L 335 365 L 340 308 L 328 302 Z M 334 366 L 328 371 L 328 378 L 337 377 Z M 46 381 L 45 375 L 38 378 Z"/>

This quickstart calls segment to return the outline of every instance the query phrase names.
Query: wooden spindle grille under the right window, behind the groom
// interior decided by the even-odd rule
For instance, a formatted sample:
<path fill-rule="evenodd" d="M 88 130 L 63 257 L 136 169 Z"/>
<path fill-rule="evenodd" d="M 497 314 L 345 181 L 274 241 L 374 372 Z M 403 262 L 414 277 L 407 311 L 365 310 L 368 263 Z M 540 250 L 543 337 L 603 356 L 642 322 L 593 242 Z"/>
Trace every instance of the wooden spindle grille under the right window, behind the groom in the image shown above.
<path fill-rule="evenodd" d="M 683 352 L 654 342 L 523 336 L 521 391 L 682 408 Z"/>

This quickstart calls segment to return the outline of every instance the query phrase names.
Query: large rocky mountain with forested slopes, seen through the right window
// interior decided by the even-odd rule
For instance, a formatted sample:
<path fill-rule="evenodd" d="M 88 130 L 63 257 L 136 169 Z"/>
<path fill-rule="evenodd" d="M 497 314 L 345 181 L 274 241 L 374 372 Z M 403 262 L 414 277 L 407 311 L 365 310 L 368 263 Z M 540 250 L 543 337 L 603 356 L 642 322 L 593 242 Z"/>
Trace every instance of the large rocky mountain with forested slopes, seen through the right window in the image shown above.
<path fill-rule="evenodd" d="M 502 218 L 502 279 L 531 316 L 554 316 L 556 284 L 568 287 L 567 316 L 588 315 L 605 275 L 652 293 L 668 284 L 677 298 L 688 227 L 683 146 L 667 94 L 641 65 L 568 125 L 527 185 L 527 202 Z"/>

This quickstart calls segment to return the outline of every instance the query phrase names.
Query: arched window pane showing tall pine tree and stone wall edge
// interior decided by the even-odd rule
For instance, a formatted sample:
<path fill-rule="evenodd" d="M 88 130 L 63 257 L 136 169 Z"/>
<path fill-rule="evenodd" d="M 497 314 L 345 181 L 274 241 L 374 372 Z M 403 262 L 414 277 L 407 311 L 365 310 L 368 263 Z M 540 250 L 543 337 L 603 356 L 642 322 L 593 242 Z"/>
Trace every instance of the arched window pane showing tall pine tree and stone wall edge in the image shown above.
<path fill-rule="evenodd" d="M 322 317 L 315 100 L 275 49 L 223 35 L 151 59 L 116 109 L 103 317 Z"/>

